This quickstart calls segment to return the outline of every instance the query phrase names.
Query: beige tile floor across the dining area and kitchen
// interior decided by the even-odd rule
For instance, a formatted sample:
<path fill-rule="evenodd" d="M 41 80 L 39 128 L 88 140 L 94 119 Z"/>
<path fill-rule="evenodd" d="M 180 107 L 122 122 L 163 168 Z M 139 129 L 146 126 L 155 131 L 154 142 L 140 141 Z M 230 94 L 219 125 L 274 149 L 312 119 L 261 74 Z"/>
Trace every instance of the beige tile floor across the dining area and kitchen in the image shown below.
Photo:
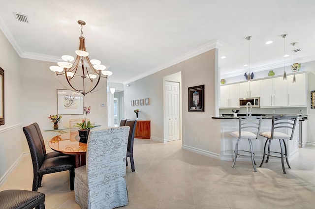
<path fill-rule="evenodd" d="M 283 174 L 280 161 L 253 172 L 250 161 L 237 161 L 232 168 L 231 161 L 198 155 L 181 145 L 135 139 L 136 171 L 127 167 L 129 204 L 122 209 L 315 208 L 315 147 L 300 148 Z M 45 193 L 47 209 L 79 209 L 68 178 L 67 171 L 44 175 L 38 191 Z M 23 158 L 0 187 L 4 189 L 32 189 L 31 157 Z"/>

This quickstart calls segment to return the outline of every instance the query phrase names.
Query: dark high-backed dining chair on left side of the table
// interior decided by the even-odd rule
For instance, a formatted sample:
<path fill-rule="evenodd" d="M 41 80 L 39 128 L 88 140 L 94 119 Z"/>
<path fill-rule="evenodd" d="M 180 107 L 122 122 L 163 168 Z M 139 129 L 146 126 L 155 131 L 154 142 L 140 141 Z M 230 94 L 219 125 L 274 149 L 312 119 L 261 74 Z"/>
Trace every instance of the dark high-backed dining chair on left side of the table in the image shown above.
<path fill-rule="evenodd" d="M 41 145 L 40 137 L 34 124 L 23 127 L 23 132 L 29 144 L 33 163 L 33 186 L 32 190 L 37 191 L 41 186 L 44 174 L 60 171 L 70 171 L 70 189 L 74 189 L 74 160 L 72 156 L 59 156 L 46 158 Z"/>

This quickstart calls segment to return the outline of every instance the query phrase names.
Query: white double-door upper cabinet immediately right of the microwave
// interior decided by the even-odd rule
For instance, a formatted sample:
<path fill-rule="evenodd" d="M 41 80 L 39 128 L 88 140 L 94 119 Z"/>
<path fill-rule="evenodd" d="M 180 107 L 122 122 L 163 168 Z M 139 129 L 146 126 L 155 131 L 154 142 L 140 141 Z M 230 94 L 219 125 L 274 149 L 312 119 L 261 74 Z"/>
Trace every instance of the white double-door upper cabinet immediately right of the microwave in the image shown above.
<path fill-rule="evenodd" d="M 287 106 L 287 81 L 282 77 L 260 80 L 260 107 Z"/>

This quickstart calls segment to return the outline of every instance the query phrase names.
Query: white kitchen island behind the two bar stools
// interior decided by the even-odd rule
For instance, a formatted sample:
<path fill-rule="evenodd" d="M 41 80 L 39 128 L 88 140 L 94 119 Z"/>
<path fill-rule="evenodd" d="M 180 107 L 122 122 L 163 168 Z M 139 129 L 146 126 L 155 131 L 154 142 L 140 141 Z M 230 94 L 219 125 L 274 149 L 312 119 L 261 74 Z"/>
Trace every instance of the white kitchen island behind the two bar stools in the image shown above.
<path fill-rule="evenodd" d="M 254 115 L 252 115 L 254 116 Z M 271 131 L 271 123 L 272 123 L 272 115 L 262 115 L 261 126 L 259 132 Z M 301 116 L 303 117 L 303 116 Z M 235 149 L 236 138 L 230 135 L 233 131 L 238 131 L 239 127 L 239 117 L 233 117 L 229 114 L 224 114 L 222 117 L 212 117 L 212 119 L 220 119 L 221 120 L 221 160 L 233 160 Z M 297 121 L 298 123 L 298 121 Z M 286 132 L 287 130 L 284 130 Z M 298 139 L 298 124 L 295 127 L 293 140 L 286 140 L 287 152 L 289 159 L 295 156 L 298 156 L 298 147 L 299 147 L 299 139 Z M 252 140 L 253 152 L 255 154 L 256 164 L 260 164 L 263 157 L 264 145 L 266 142 L 266 138 L 262 136 L 258 136 L 257 140 Z M 239 150 L 250 150 L 250 145 L 247 140 L 241 140 L 239 142 Z M 280 152 L 279 140 L 272 140 L 271 142 L 271 151 Z M 237 157 L 237 160 L 241 161 L 251 161 L 250 157 Z M 280 159 L 276 157 L 270 157 L 269 161 L 279 161 Z"/>

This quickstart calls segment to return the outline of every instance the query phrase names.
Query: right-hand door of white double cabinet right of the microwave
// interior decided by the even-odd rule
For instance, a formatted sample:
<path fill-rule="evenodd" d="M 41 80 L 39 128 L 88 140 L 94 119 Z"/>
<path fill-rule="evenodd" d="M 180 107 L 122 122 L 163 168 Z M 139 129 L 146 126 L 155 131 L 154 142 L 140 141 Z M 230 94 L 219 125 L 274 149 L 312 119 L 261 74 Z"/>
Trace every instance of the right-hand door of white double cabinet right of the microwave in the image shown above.
<path fill-rule="evenodd" d="M 287 106 L 287 80 L 273 78 L 273 106 Z"/>

